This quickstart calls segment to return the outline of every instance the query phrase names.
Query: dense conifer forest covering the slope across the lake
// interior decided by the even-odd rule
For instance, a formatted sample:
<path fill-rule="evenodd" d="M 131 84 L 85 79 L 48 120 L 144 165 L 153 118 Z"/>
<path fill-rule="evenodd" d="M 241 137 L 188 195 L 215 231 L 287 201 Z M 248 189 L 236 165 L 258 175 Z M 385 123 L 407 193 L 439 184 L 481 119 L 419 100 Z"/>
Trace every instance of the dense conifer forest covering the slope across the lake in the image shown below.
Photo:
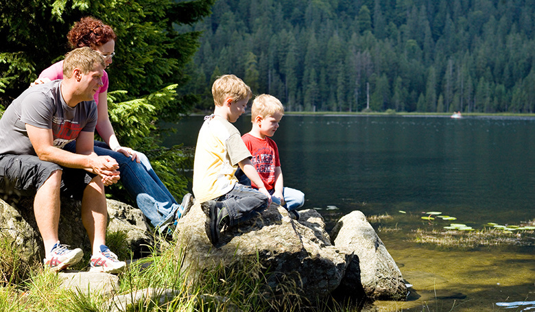
<path fill-rule="evenodd" d="M 534 0 L 219 0 L 182 93 L 234 73 L 289 111 L 534 112 Z"/>

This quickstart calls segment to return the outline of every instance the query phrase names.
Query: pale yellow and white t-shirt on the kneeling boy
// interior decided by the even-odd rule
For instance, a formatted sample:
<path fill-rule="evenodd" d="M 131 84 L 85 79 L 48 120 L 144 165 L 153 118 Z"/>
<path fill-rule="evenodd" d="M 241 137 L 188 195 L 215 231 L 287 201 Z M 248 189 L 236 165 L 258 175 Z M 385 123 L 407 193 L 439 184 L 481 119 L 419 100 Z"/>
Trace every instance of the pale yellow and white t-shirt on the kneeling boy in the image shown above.
<path fill-rule="evenodd" d="M 223 117 L 207 117 L 199 131 L 193 161 L 193 195 L 199 202 L 222 196 L 237 182 L 234 173 L 251 154 L 235 126 Z"/>

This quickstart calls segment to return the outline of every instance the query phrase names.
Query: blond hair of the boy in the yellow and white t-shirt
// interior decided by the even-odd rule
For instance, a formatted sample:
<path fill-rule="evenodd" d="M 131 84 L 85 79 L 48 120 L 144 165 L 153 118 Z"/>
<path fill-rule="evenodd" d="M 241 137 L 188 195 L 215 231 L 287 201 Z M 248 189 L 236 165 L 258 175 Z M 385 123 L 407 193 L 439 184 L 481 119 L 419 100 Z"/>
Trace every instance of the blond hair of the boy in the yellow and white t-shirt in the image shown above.
<path fill-rule="evenodd" d="M 225 99 L 239 101 L 252 97 L 251 88 L 235 75 L 222 75 L 212 85 L 213 101 L 216 106 L 223 106 Z"/>

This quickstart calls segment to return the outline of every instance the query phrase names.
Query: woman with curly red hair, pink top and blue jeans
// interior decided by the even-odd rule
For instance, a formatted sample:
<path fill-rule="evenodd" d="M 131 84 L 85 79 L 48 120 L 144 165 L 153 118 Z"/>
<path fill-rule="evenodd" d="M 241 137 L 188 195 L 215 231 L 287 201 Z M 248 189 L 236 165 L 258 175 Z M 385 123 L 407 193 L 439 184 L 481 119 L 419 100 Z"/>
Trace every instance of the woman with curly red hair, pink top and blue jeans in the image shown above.
<path fill-rule="evenodd" d="M 99 52 L 106 67 L 115 56 L 115 40 L 117 36 L 113 29 L 92 17 L 84 17 L 76 23 L 69 34 L 69 44 L 73 49 L 78 47 L 91 47 Z M 47 80 L 63 78 L 63 61 L 51 65 L 40 75 L 36 84 Z M 150 219 L 151 224 L 166 235 L 169 233 L 169 224 L 182 217 L 192 204 L 191 194 L 185 195 L 182 204 L 177 204 L 173 195 L 160 181 L 148 158 L 141 152 L 130 147 L 123 147 L 117 141 L 108 115 L 108 73 L 104 71 L 103 86 L 95 93 L 95 102 L 98 110 L 97 132 L 104 142 L 95 141 L 95 153 L 99 156 L 112 156 L 119 163 L 123 187 L 136 201 L 143 214 Z M 64 147 L 69 152 L 76 151 L 76 143 L 71 142 Z"/>

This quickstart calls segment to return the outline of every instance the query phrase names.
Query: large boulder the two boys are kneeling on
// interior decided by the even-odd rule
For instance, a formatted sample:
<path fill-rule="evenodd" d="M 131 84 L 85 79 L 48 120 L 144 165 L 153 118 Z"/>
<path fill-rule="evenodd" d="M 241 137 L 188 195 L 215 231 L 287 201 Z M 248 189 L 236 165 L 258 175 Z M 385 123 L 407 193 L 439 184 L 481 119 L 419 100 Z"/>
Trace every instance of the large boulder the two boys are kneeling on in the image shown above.
<path fill-rule="evenodd" d="M 226 230 L 214 247 L 204 231 L 206 216 L 195 203 L 178 222 L 175 254 L 193 271 L 221 263 L 230 266 L 258 256 L 261 264 L 270 268 L 267 285 L 275 294 L 281 280 L 286 280 L 298 285 L 299 294 L 313 301 L 340 285 L 351 254 L 329 243 L 316 211 L 300 213 L 298 223 L 285 208 L 272 204 L 261 216 Z"/>

